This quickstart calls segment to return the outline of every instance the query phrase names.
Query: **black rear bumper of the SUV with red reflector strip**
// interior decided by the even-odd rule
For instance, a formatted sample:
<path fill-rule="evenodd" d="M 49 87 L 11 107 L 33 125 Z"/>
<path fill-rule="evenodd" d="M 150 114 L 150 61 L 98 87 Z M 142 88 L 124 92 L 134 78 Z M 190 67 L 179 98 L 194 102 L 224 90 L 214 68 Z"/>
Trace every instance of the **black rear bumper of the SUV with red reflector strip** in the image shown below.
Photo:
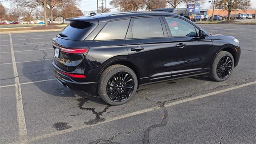
<path fill-rule="evenodd" d="M 71 90 L 79 90 L 83 92 L 92 92 L 97 89 L 97 82 L 76 82 L 74 79 L 60 73 L 60 68 L 52 61 L 52 72 L 55 78 L 63 86 L 67 86 Z"/>

